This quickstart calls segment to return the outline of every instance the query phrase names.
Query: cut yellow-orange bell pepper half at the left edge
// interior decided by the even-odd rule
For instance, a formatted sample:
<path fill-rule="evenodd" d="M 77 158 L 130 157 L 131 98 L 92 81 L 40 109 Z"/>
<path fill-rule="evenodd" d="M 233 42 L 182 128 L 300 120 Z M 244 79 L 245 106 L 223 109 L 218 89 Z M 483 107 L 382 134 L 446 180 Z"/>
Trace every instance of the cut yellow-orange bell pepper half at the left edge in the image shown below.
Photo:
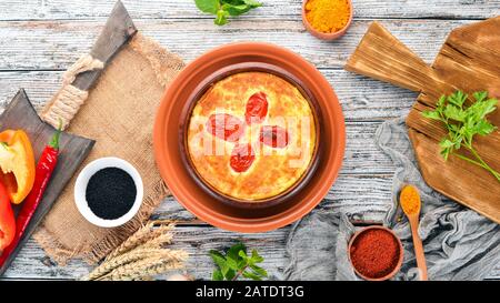
<path fill-rule="evenodd" d="M 22 130 L 0 133 L 0 182 L 10 201 L 19 204 L 34 183 L 34 156 L 28 134 Z"/>

